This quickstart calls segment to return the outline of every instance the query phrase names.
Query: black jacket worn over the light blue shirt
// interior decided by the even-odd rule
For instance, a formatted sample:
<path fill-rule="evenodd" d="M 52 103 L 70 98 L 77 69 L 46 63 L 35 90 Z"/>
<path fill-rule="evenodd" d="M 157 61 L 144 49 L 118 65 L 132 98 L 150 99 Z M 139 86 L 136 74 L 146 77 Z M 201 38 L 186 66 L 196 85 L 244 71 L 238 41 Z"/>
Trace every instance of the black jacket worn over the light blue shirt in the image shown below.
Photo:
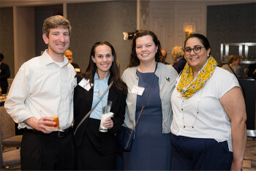
<path fill-rule="evenodd" d="M 77 75 L 78 83 L 83 78 Z M 111 77 L 111 76 L 110 76 Z M 110 84 L 110 79 L 108 80 L 108 85 Z M 83 117 L 89 113 L 92 107 L 92 100 L 94 95 L 94 86 L 89 90 L 82 88 L 81 86 L 76 86 L 74 90 L 74 130 L 83 119 Z M 124 113 L 126 107 L 127 94 L 118 90 L 114 84 L 110 87 L 108 92 L 108 100 L 112 101 L 110 112 L 114 113 L 113 128 L 108 129 L 106 134 L 116 134 L 121 128 L 122 123 L 124 123 Z M 77 132 L 75 133 L 75 145 L 80 146 L 83 140 L 83 134 L 86 130 L 89 117 L 80 125 Z"/>

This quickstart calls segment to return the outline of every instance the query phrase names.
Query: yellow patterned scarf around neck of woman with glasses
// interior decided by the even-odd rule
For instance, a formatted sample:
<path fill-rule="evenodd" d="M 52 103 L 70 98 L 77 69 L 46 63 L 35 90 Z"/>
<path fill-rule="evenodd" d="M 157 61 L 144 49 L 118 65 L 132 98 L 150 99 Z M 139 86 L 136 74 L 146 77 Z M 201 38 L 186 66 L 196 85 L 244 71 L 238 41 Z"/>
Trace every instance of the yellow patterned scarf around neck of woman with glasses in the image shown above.
<path fill-rule="evenodd" d="M 193 79 L 192 68 L 189 66 L 189 64 L 186 64 L 181 74 L 181 80 L 178 83 L 177 91 L 181 92 L 182 96 L 188 99 L 201 88 L 203 88 L 203 86 L 205 86 L 206 81 L 214 73 L 216 66 L 217 61 L 215 61 L 215 59 L 210 56 L 206 64 L 203 66 L 203 69 L 201 69 L 198 72 L 197 77 Z"/>

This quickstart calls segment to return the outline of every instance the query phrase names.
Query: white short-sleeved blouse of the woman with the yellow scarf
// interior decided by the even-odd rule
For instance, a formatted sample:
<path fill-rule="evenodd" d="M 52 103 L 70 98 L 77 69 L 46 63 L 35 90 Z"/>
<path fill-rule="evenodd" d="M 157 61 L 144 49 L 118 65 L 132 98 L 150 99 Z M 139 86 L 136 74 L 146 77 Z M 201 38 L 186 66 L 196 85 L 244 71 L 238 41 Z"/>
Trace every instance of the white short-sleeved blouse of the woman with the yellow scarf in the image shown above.
<path fill-rule="evenodd" d="M 178 84 L 180 77 L 177 78 Z M 181 96 L 177 88 L 171 96 L 173 122 L 171 132 L 195 138 L 212 138 L 218 142 L 227 140 L 233 151 L 230 119 L 219 99 L 239 83 L 235 75 L 217 67 L 206 85 L 189 99 Z M 197 113 L 198 112 L 198 113 Z"/>

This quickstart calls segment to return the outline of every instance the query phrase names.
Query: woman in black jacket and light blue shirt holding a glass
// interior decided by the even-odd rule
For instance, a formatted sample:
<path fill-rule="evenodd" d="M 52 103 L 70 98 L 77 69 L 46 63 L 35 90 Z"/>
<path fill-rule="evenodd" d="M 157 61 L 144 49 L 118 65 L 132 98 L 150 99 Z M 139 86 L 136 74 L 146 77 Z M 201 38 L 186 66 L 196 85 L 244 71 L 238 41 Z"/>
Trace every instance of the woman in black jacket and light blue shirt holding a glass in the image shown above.
<path fill-rule="evenodd" d="M 115 134 L 124 122 L 127 86 L 121 80 L 116 65 L 116 52 L 110 42 L 96 42 L 91 48 L 89 66 L 86 72 L 78 75 L 78 86 L 74 92 L 74 127 L 99 101 L 102 94 L 113 81 L 113 86 L 102 100 L 112 102 L 110 112 L 113 118 L 103 123 L 108 132 L 99 132 L 102 115 L 102 100 L 91 115 L 80 125 L 75 133 L 78 170 L 114 170 L 116 154 Z"/>

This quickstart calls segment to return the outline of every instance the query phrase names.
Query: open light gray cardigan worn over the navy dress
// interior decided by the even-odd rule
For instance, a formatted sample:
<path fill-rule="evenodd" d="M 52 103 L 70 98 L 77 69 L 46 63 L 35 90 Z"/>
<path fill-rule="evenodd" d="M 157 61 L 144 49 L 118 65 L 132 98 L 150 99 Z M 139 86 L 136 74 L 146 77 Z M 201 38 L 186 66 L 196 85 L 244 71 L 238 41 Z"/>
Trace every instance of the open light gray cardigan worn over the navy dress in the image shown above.
<path fill-rule="evenodd" d="M 136 75 L 137 66 L 129 67 L 122 75 L 122 79 L 127 83 L 127 107 L 125 110 L 124 126 L 132 129 L 135 126 L 135 109 L 137 94 L 132 94 L 133 86 L 138 86 L 139 78 Z M 170 104 L 170 96 L 176 84 L 176 77 L 178 73 L 173 66 L 165 65 L 162 63 L 157 64 L 157 71 L 155 75 L 159 77 L 159 91 L 160 99 L 162 102 L 162 133 L 170 133 L 170 124 L 173 119 L 172 107 Z M 142 113 L 143 115 L 143 113 Z M 140 122 L 140 121 L 139 121 Z"/>

